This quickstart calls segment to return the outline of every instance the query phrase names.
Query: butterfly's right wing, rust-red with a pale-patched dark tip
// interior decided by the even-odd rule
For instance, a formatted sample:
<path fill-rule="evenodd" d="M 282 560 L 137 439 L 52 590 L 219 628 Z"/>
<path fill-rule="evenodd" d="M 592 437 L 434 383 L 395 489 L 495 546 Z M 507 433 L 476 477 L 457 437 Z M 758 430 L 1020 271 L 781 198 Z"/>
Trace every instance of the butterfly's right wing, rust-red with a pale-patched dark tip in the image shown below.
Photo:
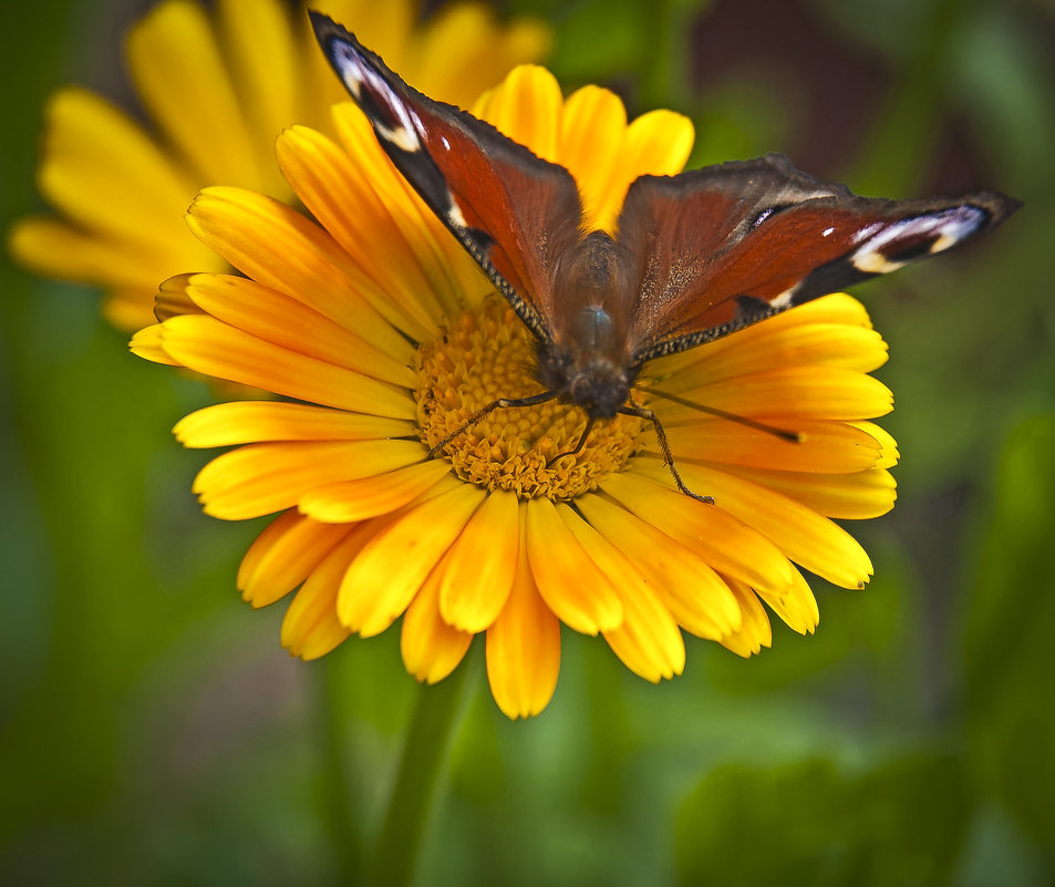
<path fill-rule="evenodd" d="M 642 176 L 619 218 L 638 257 L 635 364 L 958 246 L 1018 206 L 1000 194 L 949 200 L 857 197 L 783 155 Z"/>

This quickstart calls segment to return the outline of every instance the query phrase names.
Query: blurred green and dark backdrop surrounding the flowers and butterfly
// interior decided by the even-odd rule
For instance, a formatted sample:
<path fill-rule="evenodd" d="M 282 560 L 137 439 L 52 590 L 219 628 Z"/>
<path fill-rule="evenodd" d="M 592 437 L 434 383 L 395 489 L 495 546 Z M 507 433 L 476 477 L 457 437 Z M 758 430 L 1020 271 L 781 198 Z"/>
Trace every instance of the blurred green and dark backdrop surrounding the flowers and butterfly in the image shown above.
<path fill-rule="evenodd" d="M 148 8 L 3 4 L 4 229 L 41 208 L 44 99 L 131 102 Z M 894 512 L 850 527 L 868 589 L 815 581 L 816 636 L 775 625 L 753 660 L 690 640 L 661 687 L 566 631 L 526 723 L 474 647 L 416 883 L 1055 883 L 1055 6 L 501 10 L 551 24 L 567 90 L 692 116 L 693 165 L 783 151 L 858 193 L 1025 208 L 860 288 L 903 456 Z M 131 357 L 97 293 L 0 267 L 0 881 L 354 883 L 423 692 L 396 633 L 280 650 L 280 609 L 234 589 L 259 526 L 199 514 L 208 455 L 168 433 L 208 391 Z"/>

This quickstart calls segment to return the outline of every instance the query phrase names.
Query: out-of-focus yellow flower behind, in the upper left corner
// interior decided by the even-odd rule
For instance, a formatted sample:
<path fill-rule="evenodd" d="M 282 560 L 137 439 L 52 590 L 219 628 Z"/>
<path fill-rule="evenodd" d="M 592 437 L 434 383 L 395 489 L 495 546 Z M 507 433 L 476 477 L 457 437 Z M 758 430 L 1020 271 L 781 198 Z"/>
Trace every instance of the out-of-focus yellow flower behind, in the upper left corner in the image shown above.
<path fill-rule="evenodd" d="M 483 3 L 443 7 L 417 25 L 415 0 L 313 0 L 433 94 L 467 103 L 548 47 L 537 22 L 499 25 Z M 457 52 L 452 52 L 452 47 Z M 304 8 L 281 0 L 165 0 L 128 33 L 127 62 L 149 130 L 80 86 L 45 111 L 38 181 L 53 216 L 23 219 L 12 255 L 33 271 L 105 290 L 115 326 L 153 322 L 159 281 L 230 270 L 187 230 L 197 190 L 238 185 L 292 200 L 275 138 L 293 123 L 325 127 L 348 96 L 321 59 Z"/>

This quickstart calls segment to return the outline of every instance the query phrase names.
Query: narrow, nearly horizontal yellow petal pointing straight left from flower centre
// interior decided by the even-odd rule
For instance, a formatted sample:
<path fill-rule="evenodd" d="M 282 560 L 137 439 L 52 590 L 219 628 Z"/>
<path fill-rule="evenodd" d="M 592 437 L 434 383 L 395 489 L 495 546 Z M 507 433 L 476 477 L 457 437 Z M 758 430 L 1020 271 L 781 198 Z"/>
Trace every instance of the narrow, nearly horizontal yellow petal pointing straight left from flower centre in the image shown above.
<path fill-rule="evenodd" d="M 377 441 L 413 436 L 414 426 L 306 403 L 235 401 L 190 413 L 176 423 L 173 434 L 184 446 L 208 447 L 263 441 Z"/>

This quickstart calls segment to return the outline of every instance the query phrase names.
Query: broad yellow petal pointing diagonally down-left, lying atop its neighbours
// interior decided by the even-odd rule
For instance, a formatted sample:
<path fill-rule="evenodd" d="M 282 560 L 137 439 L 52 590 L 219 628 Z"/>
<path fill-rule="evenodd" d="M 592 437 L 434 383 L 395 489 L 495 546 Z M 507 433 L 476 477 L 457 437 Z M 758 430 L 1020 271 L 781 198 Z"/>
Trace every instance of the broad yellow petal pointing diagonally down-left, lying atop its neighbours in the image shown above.
<path fill-rule="evenodd" d="M 464 483 L 410 509 L 363 548 L 338 597 L 338 617 L 364 638 L 399 617 L 465 528 L 485 493 Z"/>

